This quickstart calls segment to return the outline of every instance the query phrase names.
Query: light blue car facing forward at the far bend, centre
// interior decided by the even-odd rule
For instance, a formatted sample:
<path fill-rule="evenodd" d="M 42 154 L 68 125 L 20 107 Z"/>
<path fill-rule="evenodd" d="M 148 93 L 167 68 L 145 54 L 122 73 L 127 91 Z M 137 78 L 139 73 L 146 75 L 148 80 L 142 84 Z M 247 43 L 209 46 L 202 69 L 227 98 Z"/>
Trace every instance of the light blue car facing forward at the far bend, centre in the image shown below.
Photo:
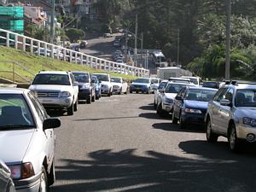
<path fill-rule="evenodd" d="M 150 78 L 138 78 L 135 81 L 133 81 L 130 85 L 130 93 L 135 91 L 143 92 L 143 93 L 151 93 L 153 90 L 150 88 L 151 79 Z"/>

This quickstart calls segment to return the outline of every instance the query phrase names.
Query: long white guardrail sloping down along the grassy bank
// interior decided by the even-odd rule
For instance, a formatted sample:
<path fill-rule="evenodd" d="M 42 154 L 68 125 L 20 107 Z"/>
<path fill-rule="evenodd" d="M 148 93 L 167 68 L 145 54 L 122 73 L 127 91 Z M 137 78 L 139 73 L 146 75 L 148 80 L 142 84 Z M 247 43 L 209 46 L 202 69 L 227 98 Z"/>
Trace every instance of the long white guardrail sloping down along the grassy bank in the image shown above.
<path fill-rule="evenodd" d="M 3 40 L 2 40 L 3 39 Z M 120 64 L 113 61 L 104 60 L 95 56 L 63 48 L 59 45 L 49 44 L 35 38 L 29 38 L 15 32 L 0 29 L 0 42 L 7 47 L 13 46 L 15 49 L 30 51 L 36 55 L 55 58 L 61 61 L 74 62 L 80 65 L 86 65 L 91 68 L 106 70 L 111 73 L 129 74 L 138 77 L 149 77 L 149 70 L 140 67 L 132 67 L 126 64 Z M 45 51 L 46 50 L 46 51 Z"/>

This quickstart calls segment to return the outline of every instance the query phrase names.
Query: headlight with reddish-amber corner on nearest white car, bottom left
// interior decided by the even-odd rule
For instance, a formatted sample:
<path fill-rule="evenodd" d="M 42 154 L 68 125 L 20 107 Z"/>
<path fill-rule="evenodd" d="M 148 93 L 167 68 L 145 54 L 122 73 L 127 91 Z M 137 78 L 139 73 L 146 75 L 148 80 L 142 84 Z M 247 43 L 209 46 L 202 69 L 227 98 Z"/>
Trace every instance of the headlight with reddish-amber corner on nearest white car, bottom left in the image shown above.
<path fill-rule="evenodd" d="M 21 165 L 9 166 L 11 171 L 11 177 L 17 178 L 28 178 L 35 175 L 32 163 L 23 163 Z"/>

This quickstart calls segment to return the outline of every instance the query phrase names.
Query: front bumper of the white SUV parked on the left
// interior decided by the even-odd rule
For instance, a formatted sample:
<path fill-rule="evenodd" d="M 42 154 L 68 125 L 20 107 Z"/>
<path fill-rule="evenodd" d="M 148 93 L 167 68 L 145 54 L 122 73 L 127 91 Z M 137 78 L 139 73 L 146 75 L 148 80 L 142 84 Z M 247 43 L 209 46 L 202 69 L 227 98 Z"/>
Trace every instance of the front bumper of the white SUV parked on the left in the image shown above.
<path fill-rule="evenodd" d="M 38 97 L 44 108 L 69 108 L 73 103 L 73 97 Z"/>

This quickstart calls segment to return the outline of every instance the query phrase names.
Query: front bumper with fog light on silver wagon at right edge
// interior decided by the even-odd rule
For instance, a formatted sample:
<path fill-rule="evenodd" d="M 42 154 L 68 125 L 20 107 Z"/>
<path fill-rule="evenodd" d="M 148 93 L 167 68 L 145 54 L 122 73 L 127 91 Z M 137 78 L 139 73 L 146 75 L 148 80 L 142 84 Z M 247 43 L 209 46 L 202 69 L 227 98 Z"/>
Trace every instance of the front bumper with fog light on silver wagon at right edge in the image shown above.
<path fill-rule="evenodd" d="M 237 138 L 241 140 L 246 140 L 247 142 L 250 143 L 255 143 L 256 142 L 256 127 L 252 127 L 249 125 L 238 125 L 236 126 L 236 136 Z M 249 134 L 252 134 L 254 136 L 253 141 L 248 141 L 247 136 Z"/>

